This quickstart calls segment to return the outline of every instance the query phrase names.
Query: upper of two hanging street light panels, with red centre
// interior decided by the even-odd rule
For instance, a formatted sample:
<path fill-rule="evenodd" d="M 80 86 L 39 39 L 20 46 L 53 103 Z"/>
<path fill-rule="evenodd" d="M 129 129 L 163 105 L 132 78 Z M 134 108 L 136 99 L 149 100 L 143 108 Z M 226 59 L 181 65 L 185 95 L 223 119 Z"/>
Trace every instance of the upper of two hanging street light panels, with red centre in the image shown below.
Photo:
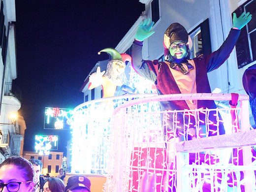
<path fill-rule="evenodd" d="M 45 108 L 44 128 L 47 129 L 70 129 L 73 109 Z"/>

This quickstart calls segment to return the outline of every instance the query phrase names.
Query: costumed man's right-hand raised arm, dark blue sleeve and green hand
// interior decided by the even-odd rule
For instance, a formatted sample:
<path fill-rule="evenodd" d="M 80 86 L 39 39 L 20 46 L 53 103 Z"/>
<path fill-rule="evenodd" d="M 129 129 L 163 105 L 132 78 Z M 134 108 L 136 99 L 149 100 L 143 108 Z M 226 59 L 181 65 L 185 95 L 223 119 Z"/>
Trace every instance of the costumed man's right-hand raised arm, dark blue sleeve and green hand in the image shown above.
<path fill-rule="evenodd" d="M 227 38 L 223 42 L 222 46 L 205 58 L 205 63 L 207 64 L 207 72 L 219 68 L 229 57 L 232 52 L 236 41 L 239 37 L 240 30 L 252 19 L 252 15 L 248 13 L 242 13 L 240 17 L 236 17 L 233 14 L 233 28 L 229 32 Z"/>

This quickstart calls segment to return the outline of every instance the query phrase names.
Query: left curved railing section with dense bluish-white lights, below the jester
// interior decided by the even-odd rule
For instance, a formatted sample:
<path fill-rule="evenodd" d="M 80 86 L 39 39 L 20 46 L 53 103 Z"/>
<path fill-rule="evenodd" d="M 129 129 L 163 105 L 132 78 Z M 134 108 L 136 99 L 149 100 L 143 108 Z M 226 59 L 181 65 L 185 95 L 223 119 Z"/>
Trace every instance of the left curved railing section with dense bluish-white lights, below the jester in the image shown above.
<path fill-rule="evenodd" d="M 152 94 L 101 98 L 78 105 L 73 111 L 71 124 L 71 172 L 105 175 L 110 119 L 114 109 L 128 101 L 148 96 Z"/>

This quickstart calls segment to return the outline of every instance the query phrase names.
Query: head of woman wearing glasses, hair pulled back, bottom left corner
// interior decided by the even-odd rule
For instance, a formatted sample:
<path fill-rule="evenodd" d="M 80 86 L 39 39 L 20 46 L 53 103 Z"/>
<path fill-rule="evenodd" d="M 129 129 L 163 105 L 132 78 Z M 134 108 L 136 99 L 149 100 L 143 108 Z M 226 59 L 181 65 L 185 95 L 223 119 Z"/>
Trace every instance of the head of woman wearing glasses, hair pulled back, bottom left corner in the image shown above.
<path fill-rule="evenodd" d="M 21 157 L 10 157 L 0 164 L 0 192 L 32 192 L 34 169 Z"/>

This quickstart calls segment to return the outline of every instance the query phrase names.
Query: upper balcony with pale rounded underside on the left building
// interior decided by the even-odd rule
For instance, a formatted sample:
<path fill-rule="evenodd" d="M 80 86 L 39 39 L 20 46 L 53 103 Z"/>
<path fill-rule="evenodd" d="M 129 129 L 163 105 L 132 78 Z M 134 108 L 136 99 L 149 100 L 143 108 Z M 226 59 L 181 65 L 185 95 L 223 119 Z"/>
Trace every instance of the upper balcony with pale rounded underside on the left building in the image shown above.
<path fill-rule="evenodd" d="M 12 93 L 11 87 L 12 87 L 11 82 L 5 82 L 2 105 L 5 107 L 6 112 L 18 111 L 21 107 L 21 102 Z"/>

